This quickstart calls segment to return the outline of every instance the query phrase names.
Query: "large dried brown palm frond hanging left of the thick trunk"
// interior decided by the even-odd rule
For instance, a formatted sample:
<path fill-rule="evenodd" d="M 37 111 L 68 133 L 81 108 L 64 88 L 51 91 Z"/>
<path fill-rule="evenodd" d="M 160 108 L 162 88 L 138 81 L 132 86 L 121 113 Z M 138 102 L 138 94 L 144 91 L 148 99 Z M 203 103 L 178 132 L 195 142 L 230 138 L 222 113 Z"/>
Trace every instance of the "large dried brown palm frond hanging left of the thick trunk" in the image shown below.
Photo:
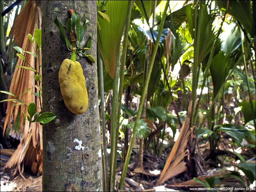
<path fill-rule="evenodd" d="M 41 7 L 39 5 L 40 1 L 28 1 L 23 7 L 20 14 L 16 17 L 14 25 L 11 29 L 11 37 L 14 38 L 14 43 L 21 47 L 23 50 L 34 52 L 32 44 L 28 39 L 28 33 L 34 34 L 36 26 L 41 28 Z M 11 38 L 10 38 L 11 39 Z M 34 47 L 36 47 L 36 42 L 34 42 Z M 30 65 L 38 71 L 39 63 L 31 54 L 25 53 L 25 58 L 30 63 Z M 39 60 L 41 63 L 41 51 L 38 53 Z M 28 64 L 21 58 L 18 58 L 17 66 L 28 66 Z M 16 96 L 20 96 L 27 89 L 31 89 L 32 93 L 37 92 L 35 89 L 34 72 L 26 70 L 23 68 L 16 68 L 14 76 L 12 78 L 11 86 L 9 92 L 12 92 Z M 13 98 L 9 95 L 8 98 Z M 22 96 L 21 100 L 24 103 L 36 103 L 39 108 L 39 98 L 27 92 Z M 42 126 L 39 123 L 30 123 L 25 121 L 23 125 L 23 115 L 22 112 L 27 116 L 27 108 L 23 105 L 14 105 L 13 102 L 8 102 L 7 113 L 4 123 L 4 132 L 6 127 L 12 129 L 12 125 L 15 123 L 17 116 L 20 116 L 20 133 L 22 138 L 20 144 L 18 145 L 16 151 L 11 156 L 9 161 L 5 165 L 5 169 L 15 167 L 14 174 L 19 171 L 21 174 L 23 172 L 23 166 L 29 166 L 33 169 L 37 165 L 37 171 L 40 169 L 40 159 L 42 159 Z M 29 152 L 29 153 L 27 153 Z M 31 158 L 28 160 L 27 158 Z M 38 159 L 38 161 L 36 161 Z M 32 162 L 32 160 L 34 162 Z M 23 164 L 21 169 L 21 164 Z M 34 172 L 34 171 L 33 171 Z"/>

